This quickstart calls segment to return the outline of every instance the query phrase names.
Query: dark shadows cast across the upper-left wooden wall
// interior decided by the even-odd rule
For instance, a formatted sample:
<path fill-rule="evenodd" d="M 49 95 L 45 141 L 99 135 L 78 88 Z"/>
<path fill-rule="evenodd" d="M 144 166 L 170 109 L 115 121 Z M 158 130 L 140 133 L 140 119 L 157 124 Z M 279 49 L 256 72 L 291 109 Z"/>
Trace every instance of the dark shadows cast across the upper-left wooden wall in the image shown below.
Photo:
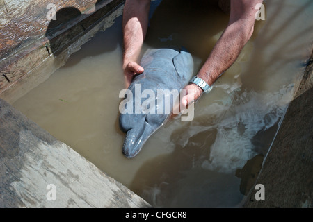
<path fill-rule="evenodd" d="M 95 10 L 99 9 L 100 3 L 102 3 L 101 0 L 98 0 L 97 3 L 95 3 Z M 81 25 L 79 28 L 77 28 L 77 26 L 71 27 L 71 25 L 74 24 L 73 21 L 79 20 L 79 17 L 82 15 L 86 17 L 89 16 L 88 14 L 81 14 L 80 10 L 74 7 L 61 8 L 61 10 L 56 12 L 56 19 L 51 20 L 45 33 L 45 36 L 49 40 L 51 50 L 49 53 L 55 57 L 59 56 L 63 50 L 67 49 L 67 47 L 72 44 L 72 42 L 81 37 L 79 33 L 82 31 L 87 32 L 85 31 L 85 27 L 82 22 L 79 22 Z M 109 29 L 116 29 L 115 26 L 116 24 L 120 24 L 120 21 L 122 21 L 122 17 L 117 17 L 115 19 L 115 24 L 109 27 Z M 70 28 L 70 31 L 66 31 L 67 26 Z M 58 35 L 58 33 L 62 31 L 65 31 L 65 34 Z M 114 51 L 118 45 L 122 44 L 122 28 L 117 29 L 117 31 L 120 32 L 118 33 L 120 38 L 116 38 L 116 35 L 112 35 L 112 31 L 98 32 L 94 37 L 92 37 L 93 43 L 88 44 L 88 42 L 86 42 L 81 46 L 84 53 L 73 53 L 69 60 L 65 63 L 64 67 L 76 65 L 83 57 L 86 56 L 97 56 L 108 51 Z M 107 41 L 103 42 L 102 39 L 106 39 Z"/>

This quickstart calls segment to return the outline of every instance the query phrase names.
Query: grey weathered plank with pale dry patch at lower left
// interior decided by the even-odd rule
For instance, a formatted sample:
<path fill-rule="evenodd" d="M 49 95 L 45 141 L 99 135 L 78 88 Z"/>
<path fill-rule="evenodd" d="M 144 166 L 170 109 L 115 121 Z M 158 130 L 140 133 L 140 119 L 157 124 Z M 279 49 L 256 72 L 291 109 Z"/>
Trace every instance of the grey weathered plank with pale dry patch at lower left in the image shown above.
<path fill-rule="evenodd" d="M 0 99 L 0 207 L 151 206 Z"/>

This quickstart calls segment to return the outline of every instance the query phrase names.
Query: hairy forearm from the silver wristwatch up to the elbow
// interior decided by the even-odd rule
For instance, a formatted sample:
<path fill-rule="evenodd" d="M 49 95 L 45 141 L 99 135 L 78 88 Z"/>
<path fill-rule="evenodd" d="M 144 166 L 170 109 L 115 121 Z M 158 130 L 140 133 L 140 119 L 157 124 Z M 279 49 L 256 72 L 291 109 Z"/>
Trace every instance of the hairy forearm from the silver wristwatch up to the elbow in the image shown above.
<path fill-rule="evenodd" d="M 213 85 L 218 76 L 236 61 L 252 31 L 253 26 L 242 21 L 227 26 L 197 76 Z"/>

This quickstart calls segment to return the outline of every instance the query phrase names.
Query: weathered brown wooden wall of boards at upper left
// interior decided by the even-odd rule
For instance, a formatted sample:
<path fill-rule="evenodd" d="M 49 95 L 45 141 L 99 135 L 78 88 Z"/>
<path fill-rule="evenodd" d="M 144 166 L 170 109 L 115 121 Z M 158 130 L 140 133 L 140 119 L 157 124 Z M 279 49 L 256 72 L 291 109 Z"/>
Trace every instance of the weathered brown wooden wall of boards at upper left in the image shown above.
<path fill-rule="evenodd" d="M 0 0 L 1 98 L 13 103 L 47 79 L 123 2 Z"/>

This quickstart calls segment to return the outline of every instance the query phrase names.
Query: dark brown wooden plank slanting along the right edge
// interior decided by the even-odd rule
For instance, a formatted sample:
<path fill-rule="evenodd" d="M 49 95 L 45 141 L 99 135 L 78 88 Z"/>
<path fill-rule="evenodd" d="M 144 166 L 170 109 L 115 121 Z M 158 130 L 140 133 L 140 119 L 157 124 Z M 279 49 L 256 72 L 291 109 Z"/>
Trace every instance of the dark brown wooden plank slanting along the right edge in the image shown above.
<path fill-rule="evenodd" d="M 312 207 L 312 60 L 313 51 L 255 182 L 264 185 L 265 200 L 256 200 L 259 190 L 251 189 L 243 207 Z"/>

